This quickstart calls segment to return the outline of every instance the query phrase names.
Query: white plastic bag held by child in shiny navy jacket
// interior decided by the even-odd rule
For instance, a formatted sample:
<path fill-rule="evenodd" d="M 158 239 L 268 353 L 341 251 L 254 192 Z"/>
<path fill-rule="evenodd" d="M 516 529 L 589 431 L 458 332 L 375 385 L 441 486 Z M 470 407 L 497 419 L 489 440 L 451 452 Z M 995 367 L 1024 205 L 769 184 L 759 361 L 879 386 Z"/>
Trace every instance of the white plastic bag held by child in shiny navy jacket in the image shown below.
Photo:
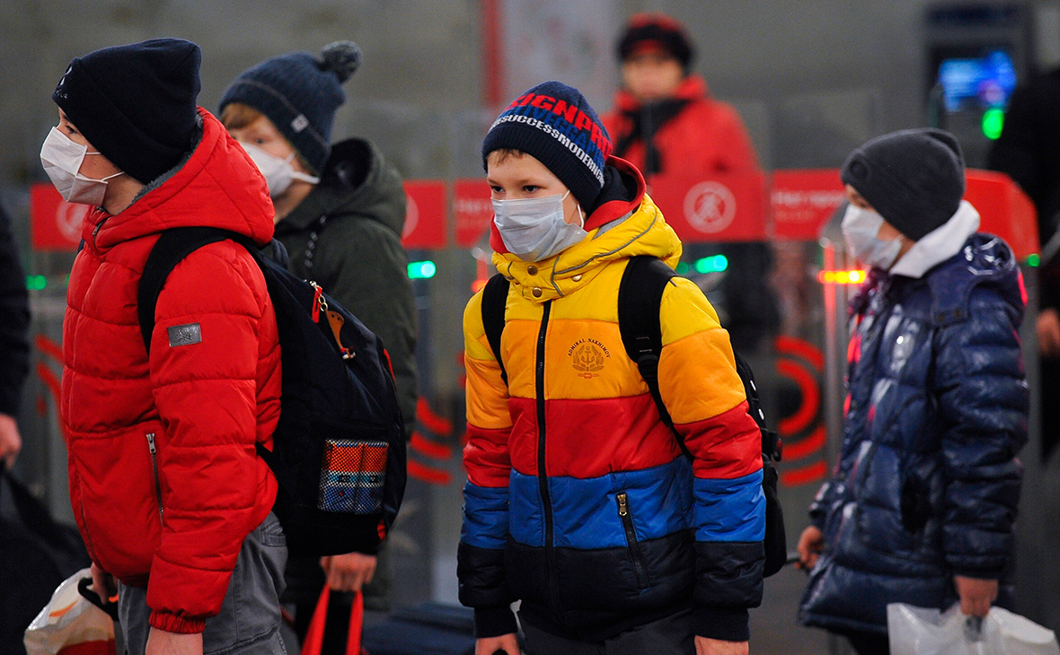
<path fill-rule="evenodd" d="M 1060 655 L 1052 630 L 1001 607 L 985 619 L 902 603 L 887 605 L 890 655 Z"/>

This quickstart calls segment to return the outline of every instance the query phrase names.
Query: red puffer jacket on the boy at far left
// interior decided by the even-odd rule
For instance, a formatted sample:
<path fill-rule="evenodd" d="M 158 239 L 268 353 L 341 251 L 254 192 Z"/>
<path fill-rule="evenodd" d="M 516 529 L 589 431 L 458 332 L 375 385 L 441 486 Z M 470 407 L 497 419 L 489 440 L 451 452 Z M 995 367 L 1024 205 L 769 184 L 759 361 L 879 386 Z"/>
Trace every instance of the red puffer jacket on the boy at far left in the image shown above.
<path fill-rule="evenodd" d="M 280 345 L 261 270 L 232 241 L 201 248 L 158 296 L 148 361 L 137 319 L 147 254 L 169 228 L 272 236 L 265 181 L 205 109 L 201 142 L 124 212 L 94 210 L 70 273 L 63 422 L 70 499 L 92 560 L 147 586 L 151 624 L 201 632 L 220 611 L 243 540 L 268 514 Z M 167 328 L 197 324 L 201 342 Z M 148 583 L 149 576 L 149 583 Z"/>

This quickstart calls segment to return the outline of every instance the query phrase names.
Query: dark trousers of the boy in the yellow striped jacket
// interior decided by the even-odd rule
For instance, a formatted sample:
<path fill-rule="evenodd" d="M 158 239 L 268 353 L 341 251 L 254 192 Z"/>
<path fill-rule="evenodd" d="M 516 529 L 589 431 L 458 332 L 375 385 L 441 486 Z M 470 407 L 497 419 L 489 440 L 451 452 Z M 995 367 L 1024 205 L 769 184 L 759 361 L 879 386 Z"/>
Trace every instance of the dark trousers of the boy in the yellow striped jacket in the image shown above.
<path fill-rule="evenodd" d="M 692 611 L 684 609 L 604 641 L 567 639 L 523 621 L 527 655 L 695 655 Z"/>

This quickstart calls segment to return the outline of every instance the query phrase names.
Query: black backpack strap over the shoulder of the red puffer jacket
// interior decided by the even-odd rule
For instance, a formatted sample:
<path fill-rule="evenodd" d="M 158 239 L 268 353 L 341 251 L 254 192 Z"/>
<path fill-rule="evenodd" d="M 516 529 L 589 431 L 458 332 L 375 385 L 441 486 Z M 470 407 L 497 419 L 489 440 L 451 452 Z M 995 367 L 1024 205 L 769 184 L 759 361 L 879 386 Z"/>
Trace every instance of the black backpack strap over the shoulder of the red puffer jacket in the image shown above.
<path fill-rule="evenodd" d="M 232 239 L 242 244 L 261 263 L 258 248 L 247 237 L 219 228 L 174 228 L 158 237 L 140 275 L 137 291 L 137 315 L 140 319 L 140 333 L 143 345 L 151 353 L 151 333 L 155 329 L 155 307 L 158 294 L 162 292 L 165 278 L 180 260 L 208 243 Z"/>

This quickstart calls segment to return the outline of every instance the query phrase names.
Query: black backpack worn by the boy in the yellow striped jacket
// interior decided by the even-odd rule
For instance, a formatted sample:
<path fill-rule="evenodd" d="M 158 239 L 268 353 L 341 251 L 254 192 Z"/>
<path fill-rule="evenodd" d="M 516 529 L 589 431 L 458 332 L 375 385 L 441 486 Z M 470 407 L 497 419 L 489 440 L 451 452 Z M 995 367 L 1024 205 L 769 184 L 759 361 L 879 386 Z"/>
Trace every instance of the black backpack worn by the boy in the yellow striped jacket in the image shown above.
<path fill-rule="evenodd" d="M 655 400 L 659 418 L 673 431 L 677 443 L 689 459 L 692 454 L 685 440 L 673 427 L 670 412 L 662 403 L 658 384 L 658 360 L 662 352 L 662 328 L 659 325 L 659 304 L 670 278 L 677 274 L 656 257 L 632 257 L 618 288 L 618 329 L 622 345 L 630 359 L 637 363 L 640 376 Z M 497 362 L 500 376 L 508 382 L 508 374 L 500 362 L 500 333 L 505 329 L 505 306 L 508 299 L 509 280 L 501 274 L 490 278 L 482 291 L 482 325 Z M 780 438 L 765 425 L 765 414 L 755 386 L 755 375 L 750 366 L 734 351 L 736 369 L 743 381 L 747 396 L 747 413 L 762 433 L 762 491 L 765 494 L 765 568 L 763 575 L 772 576 L 788 561 L 788 542 L 784 534 L 784 517 L 777 497 L 777 469 L 774 461 L 780 461 Z"/>

